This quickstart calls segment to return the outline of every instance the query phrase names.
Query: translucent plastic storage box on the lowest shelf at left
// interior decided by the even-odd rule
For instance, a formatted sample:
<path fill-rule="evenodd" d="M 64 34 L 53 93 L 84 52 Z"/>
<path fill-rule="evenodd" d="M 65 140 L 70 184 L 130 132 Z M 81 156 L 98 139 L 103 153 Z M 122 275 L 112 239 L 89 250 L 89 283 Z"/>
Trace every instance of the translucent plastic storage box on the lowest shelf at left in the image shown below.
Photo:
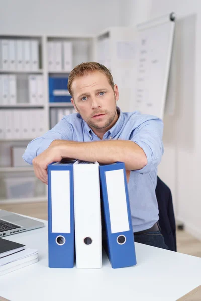
<path fill-rule="evenodd" d="M 5 178 L 8 199 L 32 198 L 35 191 L 35 177 Z"/>

